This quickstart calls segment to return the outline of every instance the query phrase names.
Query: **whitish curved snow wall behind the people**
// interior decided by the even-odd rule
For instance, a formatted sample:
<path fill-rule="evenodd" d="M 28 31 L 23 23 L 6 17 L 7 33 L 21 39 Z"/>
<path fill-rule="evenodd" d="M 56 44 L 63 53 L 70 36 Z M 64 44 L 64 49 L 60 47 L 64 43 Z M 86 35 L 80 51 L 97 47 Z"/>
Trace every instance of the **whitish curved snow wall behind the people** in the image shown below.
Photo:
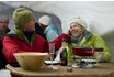
<path fill-rule="evenodd" d="M 77 15 L 87 20 L 88 30 L 103 36 L 111 51 L 114 51 L 114 2 L 113 1 L 32 1 L 3 2 L 10 7 L 26 6 L 34 11 L 57 15 L 62 31 L 69 29 L 69 20 Z"/>

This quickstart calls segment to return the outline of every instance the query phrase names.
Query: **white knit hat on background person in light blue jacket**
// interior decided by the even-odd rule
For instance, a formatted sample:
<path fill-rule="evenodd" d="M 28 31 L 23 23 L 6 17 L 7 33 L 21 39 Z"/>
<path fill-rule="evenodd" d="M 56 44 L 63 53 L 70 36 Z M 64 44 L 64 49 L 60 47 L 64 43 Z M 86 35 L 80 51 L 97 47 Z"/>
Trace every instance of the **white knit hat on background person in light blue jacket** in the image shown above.
<path fill-rule="evenodd" d="M 38 23 L 42 23 L 47 26 L 48 24 L 52 23 L 52 18 L 48 15 L 43 15 L 39 18 Z"/>

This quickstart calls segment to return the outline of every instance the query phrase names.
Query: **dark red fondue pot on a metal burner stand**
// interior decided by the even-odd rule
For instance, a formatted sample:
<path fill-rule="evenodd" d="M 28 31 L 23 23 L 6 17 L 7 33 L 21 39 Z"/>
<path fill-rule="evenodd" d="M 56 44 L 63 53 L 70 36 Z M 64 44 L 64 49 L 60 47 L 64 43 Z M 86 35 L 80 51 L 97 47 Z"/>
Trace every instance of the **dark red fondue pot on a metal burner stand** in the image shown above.
<path fill-rule="evenodd" d="M 72 47 L 72 54 L 78 56 L 92 56 L 94 54 L 93 47 Z"/>

